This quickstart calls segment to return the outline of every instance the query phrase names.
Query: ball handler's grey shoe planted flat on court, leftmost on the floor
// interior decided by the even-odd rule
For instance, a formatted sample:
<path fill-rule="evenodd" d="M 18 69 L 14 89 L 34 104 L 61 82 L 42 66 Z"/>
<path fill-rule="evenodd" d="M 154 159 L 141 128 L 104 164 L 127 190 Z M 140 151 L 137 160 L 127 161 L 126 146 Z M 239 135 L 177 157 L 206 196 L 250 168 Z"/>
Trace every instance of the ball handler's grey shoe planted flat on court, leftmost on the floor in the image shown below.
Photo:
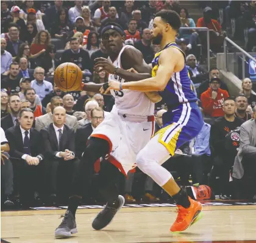
<path fill-rule="evenodd" d="M 66 210 L 62 223 L 55 230 L 55 238 L 68 238 L 77 233 L 76 221 L 71 211 Z"/>

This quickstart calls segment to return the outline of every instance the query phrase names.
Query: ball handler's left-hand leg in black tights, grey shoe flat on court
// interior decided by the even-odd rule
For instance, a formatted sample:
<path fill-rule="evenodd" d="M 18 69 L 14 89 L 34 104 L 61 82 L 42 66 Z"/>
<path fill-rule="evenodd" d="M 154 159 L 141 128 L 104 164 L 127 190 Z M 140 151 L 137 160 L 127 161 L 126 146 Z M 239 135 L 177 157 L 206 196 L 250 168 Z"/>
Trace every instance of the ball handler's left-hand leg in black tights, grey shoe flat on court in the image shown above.
<path fill-rule="evenodd" d="M 89 191 L 91 179 L 94 174 L 94 163 L 100 157 L 105 157 L 109 152 L 109 144 L 107 140 L 91 137 L 85 148 L 83 157 L 79 165 L 79 173 L 74 179 L 72 196 L 69 197 L 68 210 L 66 210 L 64 219 L 59 227 L 55 230 L 55 237 L 69 237 L 76 230 L 76 210 L 82 199 L 83 191 Z"/>

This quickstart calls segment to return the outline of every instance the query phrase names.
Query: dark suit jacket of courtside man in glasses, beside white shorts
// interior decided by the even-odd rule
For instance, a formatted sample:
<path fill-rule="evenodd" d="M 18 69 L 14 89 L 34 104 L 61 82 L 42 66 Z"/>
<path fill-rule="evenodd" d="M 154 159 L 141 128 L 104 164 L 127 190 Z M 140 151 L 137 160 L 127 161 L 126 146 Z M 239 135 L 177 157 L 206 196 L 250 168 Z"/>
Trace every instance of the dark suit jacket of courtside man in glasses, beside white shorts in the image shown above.
<path fill-rule="evenodd" d="M 85 151 L 88 137 L 90 137 L 92 132 L 93 128 L 91 127 L 91 123 L 80 126 L 76 131 L 76 156 L 79 157 L 79 159 L 82 157 L 82 153 Z"/>

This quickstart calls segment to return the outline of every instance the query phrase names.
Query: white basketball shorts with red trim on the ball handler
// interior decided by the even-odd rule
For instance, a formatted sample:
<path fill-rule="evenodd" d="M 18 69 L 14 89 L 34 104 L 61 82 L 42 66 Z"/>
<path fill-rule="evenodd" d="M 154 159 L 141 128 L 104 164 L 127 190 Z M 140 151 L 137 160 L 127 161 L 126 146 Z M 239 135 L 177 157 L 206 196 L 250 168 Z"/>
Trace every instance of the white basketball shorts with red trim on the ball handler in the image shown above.
<path fill-rule="evenodd" d="M 138 152 L 154 134 L 154 126 L 154 116 L 137 119 L 135 116 L 123 116 L 110 112 L 90 137 L 108 141 L 110 146 L 108 160 L 127 175 L 136 163 Z"/>

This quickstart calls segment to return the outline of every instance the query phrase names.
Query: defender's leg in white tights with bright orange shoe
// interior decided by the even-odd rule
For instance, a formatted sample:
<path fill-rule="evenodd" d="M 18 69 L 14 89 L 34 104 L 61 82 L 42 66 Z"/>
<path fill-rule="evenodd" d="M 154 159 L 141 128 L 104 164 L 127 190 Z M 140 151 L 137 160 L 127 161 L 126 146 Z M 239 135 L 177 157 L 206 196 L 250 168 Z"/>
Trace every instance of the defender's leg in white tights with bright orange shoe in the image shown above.
<path fill-rule="evenodd" d="M 187 193 L 177 185 L 171 173 L 161 166 L 168 157 L 169 151 L 158 142 L 159 137 L 160 134 L 155 135 L 148 145 L 139 152 L 137 166 L 175 200 L 179 213 L 171 231 L 184 231 L 197 219 L 202 211 L 202 205 L 190 199 Z"/>

